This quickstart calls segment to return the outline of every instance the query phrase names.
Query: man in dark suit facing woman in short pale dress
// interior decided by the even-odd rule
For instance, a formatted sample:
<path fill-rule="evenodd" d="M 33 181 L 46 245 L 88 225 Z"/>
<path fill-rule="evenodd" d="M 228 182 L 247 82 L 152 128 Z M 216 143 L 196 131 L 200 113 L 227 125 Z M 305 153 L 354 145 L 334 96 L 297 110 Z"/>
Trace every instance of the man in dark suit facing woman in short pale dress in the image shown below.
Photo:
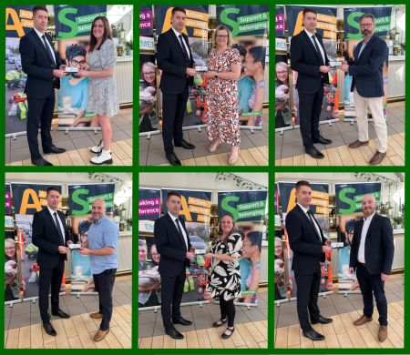
<path fill-rule="evenodd" d="M 50 35 L 45 33 L 48 22 L 46 6 L 33 9 L 34 28 L 20 39 L 23 71 L 27 74 L 27 140 L 31 162 L 36 166 L 52 166 L 38 150 L 38 127 L 41 128 L 43 152 L 64 153 L 66 149 L 53 145 L 50 129 L 55 106 L 55 88 L 60 88 L 60 77 L 66 76 L 66 65 L 56 58 Z"/>

